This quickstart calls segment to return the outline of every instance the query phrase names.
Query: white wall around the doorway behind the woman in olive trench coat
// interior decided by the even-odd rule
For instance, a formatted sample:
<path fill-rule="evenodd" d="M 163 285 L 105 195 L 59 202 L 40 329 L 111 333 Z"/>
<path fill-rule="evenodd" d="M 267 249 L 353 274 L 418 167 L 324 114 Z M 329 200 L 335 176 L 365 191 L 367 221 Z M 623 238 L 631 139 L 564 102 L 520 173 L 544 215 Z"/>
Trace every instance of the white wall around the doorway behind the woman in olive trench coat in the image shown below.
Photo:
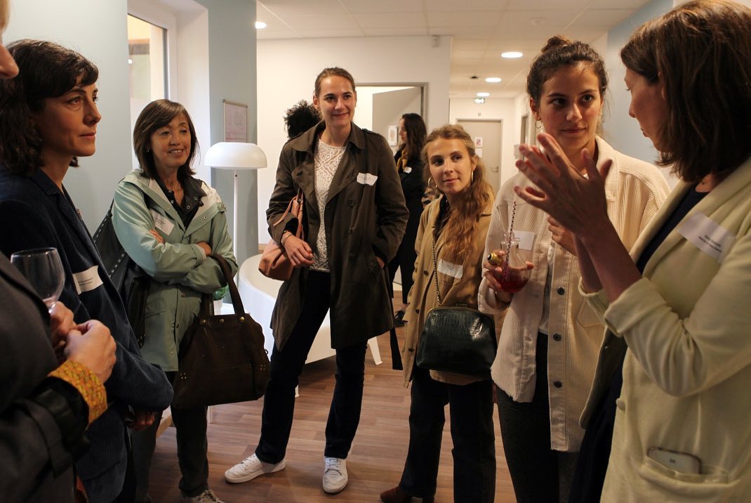
<path fill-rule="evenodd" d="M 408 62 L 399 58 L 403 54 L 409 54 Z M 439 37 L 438 47 L 432 36 L 258 41 L 258 145 L 270 166 L 258 171 L 259 244 L 269 240 L 265 214 L 287 141 L 285 111 L 300 99 L 312 99 L 315 77 L 323 68 L 346 68 L 363 86 L 427 83 L 424 118 L 430 130 L 448 120 L 450 54 L 449 37 Z"/>

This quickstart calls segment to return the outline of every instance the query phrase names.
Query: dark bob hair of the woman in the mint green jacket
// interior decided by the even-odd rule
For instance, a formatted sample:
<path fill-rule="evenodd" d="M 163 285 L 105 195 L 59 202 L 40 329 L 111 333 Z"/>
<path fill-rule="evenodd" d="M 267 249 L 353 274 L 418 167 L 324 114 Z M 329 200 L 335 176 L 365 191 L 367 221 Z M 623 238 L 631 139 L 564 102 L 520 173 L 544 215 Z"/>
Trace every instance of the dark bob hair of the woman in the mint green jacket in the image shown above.
<path fill-rule="evenodd" d="M 170 102 L 168 99 L 158 99 L 143 108 L 133 128 L 133 150 L 135 150 L 138 164 L 140 164 L 143 171 L 143 176 L 147 178 L 158 177 L 154 154 L 151 151 L 151 135 L 157 129 L 169 126 L 170 122 L 180 115 L 188 121 L 190 153 L 185 164 L 177 168 L 177 178 L 178 180 L 185 180 L 185 178 L 195 174 L 195 171 L 191 168 L 191 164 L 193 163 L 196 150 L 198 150 L 198 138 L 195 136 L 195 126 L 193 126 L 190 114 L 179 103 Z"/>

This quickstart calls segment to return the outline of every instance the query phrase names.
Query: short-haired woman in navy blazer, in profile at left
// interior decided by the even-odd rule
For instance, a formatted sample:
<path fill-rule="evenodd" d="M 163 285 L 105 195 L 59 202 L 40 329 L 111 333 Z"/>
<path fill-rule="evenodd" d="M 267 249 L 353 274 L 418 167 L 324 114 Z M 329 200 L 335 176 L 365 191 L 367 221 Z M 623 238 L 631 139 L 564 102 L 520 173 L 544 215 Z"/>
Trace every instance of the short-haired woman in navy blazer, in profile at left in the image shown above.
<path fill-rule="evenodd" d="M 0 248 L 10 256 L 30 248 L 57 248 L 65 269 L 60 295 L 76 323 L 98 319 L 117 342 L 107 381 L 112 402 L 89 427 L 89 452 L 77 462 L 92 503 L 113 501 L 126 467 L 125 416 L 136 428 L 169 407 L 172 387 L 164 372 L 141 356 L 122 300 L 63 179 L 77 158 L 95 151 L 98 69 L 58 44 L 22 40 L 8 49 L 20 74 L 0 80 Z"/>

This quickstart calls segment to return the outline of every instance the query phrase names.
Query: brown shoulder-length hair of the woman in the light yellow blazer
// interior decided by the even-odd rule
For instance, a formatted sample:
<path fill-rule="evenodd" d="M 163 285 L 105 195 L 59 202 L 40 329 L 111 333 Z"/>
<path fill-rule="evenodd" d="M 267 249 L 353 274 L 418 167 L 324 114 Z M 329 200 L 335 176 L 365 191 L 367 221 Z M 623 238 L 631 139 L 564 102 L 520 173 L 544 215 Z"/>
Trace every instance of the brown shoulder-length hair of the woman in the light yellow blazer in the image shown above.
<path fill-rule="evenodd" d="M 638 28 L 620 59 L 664 86 L 660 165 L 695 183 L 751 154 L 751 9 L 727 0 L 680 5 Z"/>

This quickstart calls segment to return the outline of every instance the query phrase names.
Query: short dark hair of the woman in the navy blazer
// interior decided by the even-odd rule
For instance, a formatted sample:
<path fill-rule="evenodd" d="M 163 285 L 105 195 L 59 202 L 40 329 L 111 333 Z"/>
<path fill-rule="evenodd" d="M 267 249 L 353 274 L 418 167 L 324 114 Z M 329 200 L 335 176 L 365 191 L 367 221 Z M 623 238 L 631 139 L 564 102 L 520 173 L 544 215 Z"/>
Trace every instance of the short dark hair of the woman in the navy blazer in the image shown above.
<path fill-rule="evenodd" d="M 44 100 L 70 91 L 80 80 L 89 86 L 99 70 L 74 50 L 53 42 L 20 40 L 8 45 L 19 74 L 0 80 L 0 159 L 17 174 L 30 176 L 44 165 L 42 139 L 32 113 L 44 110 Z M 78 159 L 71 160 L 78 166 Z"/>

